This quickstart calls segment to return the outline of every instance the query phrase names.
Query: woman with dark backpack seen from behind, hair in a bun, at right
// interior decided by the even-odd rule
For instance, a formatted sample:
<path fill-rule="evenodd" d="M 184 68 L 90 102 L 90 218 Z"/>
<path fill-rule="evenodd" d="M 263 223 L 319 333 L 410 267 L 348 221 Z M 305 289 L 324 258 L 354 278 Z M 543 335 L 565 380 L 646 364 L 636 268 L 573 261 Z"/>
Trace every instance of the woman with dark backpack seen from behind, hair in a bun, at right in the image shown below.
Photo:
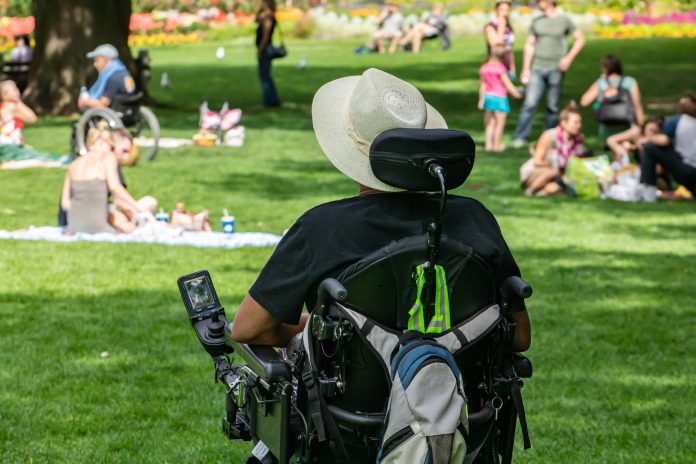
<path fill-rule="evenodd" d="M 594 106 L 603 141 L 624 132 L 631 138 L 640 136 L 644 118 L 640 88 L 633 77 L 624 76 L 617 56 L 608 54 L 602 58 L 602 76 L 587 89 L 580 105 Z"/>

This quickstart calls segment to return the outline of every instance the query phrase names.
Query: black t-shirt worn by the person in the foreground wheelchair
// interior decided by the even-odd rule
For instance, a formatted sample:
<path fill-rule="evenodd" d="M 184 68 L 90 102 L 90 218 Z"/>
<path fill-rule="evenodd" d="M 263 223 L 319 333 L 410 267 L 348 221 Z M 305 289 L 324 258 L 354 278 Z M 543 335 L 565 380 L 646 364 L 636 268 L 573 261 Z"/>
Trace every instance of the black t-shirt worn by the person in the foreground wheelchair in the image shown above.
<path fill-rule="evenodd" d="M 395 240 L 425 234 L 438 206 L 432 195 L 378 193 L 312 208 L 285 234 L 249 294 L 273 316 L 297 324 L 303 306 L 314 307 L 322 280 Z M 498 223 L 478 201 L 449 196 L 443 235 L 472 247 L 498 286 L 520 275 Z M 524 302 L 514 306 L 523 310 Z"/>

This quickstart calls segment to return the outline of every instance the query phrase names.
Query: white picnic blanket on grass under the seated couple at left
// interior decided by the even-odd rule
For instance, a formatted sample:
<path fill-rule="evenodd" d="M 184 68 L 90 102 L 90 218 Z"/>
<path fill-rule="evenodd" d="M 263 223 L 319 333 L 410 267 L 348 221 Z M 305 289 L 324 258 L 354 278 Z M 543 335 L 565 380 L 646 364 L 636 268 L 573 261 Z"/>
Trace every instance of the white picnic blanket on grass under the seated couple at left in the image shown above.
<path fill-rule="evenodd" d="M 264 232 L 186 232 L 179 228 L 155 227 L 137 229 L 132 234 L 83 234 L 63 235 L 60 227 L 34 227 L 27 230 L 0 230 L 0 239 L 46 240 L 49 242 L 111 242 L 111 243 L 155 243 L 171 246 L 193 246 L 201 248 L 241 248 L 275 246 L 280 235 Z"/>

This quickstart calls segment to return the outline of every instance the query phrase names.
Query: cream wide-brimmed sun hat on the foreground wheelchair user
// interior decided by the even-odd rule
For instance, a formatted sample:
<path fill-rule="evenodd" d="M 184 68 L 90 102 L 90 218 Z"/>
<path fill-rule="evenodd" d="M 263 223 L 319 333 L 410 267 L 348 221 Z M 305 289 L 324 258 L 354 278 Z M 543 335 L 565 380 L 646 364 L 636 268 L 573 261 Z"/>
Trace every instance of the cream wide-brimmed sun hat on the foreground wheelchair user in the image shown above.
<path fill-rule="evenodd" d="M 354 181 L 385 192 L 370 168 L 370 144 L 397 128 L 446 129 L 444 118 L 414 86 L 379 69 L 336 79 L 320 88 L 312 102 L 314 133 L 336 168 Z"/>

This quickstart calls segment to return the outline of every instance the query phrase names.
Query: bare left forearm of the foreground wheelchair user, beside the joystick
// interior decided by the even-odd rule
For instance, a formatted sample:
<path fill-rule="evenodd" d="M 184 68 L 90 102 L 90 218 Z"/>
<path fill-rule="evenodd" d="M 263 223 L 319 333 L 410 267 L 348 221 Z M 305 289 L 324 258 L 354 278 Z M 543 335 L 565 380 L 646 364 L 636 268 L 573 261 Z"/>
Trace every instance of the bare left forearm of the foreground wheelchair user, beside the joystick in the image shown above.
<path fill-rule="evenodd" d="M 286 346 L 292 337 L 304 330 L 308 318 L 309 313 L 304 313 L 299 324 L 286 324 L 247 294 L 234 316 L 232 338 L 250 345 Z"/>

